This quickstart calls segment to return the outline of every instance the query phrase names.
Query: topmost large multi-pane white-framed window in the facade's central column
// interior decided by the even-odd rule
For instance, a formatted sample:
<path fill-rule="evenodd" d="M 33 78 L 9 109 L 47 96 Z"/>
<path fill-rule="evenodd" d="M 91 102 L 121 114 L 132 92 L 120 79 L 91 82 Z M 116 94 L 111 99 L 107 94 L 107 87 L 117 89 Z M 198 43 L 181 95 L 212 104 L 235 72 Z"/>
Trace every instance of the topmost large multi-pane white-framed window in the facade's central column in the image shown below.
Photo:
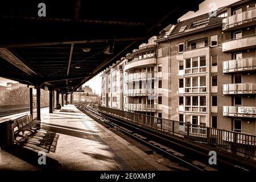
<path fill-rule="evenodd" d="M 206 56 L 185 59 L 185 74 L 206 72 Z"/>

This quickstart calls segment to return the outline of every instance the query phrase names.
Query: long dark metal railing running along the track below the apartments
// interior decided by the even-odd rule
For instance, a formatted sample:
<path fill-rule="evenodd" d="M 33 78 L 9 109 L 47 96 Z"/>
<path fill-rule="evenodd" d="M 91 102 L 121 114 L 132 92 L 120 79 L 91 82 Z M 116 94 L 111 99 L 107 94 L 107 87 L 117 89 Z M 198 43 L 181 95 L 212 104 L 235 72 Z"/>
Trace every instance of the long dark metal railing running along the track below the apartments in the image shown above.
<path fill-rule="evenodd" d="M 110 114 L 165 134 L 204 142 L 215 146 L 218 150 L 232 152 L 233 154 L 256 157 L 256 135 L 214 129 L 212 127 L 151 117 L 109 107 L 96 107 L 102 113 Z"/>

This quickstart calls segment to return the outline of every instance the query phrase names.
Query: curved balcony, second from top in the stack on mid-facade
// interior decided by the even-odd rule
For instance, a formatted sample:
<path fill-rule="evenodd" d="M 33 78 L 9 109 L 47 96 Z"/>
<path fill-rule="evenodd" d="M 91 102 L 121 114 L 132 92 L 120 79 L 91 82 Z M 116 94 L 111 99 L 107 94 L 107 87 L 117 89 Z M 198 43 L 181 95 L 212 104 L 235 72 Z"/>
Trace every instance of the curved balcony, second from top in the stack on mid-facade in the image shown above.
<path fill-rule="evenodd" d="M 140 80 L 151 80 L 155 77 L 158 77 L 158 73 L 156 72 L 142 72 L 142 73 L 129 73 L 129 75 L 125 76 L 125 83 L 133 82 L 133 81 L 140 81 Z"/>

